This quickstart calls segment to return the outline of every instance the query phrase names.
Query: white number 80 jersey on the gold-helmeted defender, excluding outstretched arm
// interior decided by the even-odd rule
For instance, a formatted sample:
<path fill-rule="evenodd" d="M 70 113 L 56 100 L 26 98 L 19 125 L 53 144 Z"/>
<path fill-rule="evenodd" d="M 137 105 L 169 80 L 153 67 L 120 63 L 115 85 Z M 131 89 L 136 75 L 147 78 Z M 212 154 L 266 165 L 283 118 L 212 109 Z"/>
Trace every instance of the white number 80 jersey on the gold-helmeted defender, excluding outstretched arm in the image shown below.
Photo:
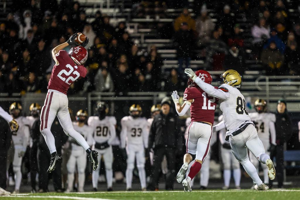
<path fill-rule="evenodd" d="M 227 128 L 226 135 L 240 129 L 244 123 L 251 122 L 250 116 L 246 109 L 246 101 L 241 92 L 228 84 L 223 84 L 219 89 L 229 92 L 227 100 L 221 100 L 220 109 L 224 115 L 224 122 Z"/>

